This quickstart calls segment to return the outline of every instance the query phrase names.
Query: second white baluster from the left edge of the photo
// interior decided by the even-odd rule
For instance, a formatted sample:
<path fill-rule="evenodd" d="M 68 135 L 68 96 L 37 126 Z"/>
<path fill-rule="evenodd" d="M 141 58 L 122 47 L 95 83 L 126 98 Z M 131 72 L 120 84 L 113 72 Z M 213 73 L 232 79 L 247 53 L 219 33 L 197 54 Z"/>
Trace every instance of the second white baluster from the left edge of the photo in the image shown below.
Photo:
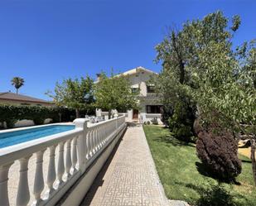
<path fill-rule="evenodd" d="M 28 180 L 27 180 L 27 165 L 30 156 L 23 157 L 20 159 L 20 177 L 19 177 L 19 184 L 17 188 L 17 199 L 16 205 L 22 206 L 27 205 L 30 199 L 30 192 L 28 188 Z"/>

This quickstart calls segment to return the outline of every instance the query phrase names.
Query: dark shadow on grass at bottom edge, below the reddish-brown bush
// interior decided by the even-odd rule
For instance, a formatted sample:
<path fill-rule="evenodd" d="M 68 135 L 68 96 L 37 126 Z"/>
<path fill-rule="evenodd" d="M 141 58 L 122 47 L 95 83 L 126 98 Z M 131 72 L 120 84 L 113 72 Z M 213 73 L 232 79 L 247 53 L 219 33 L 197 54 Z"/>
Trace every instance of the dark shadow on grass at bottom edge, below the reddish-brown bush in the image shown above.
<path fill-rule="evenodd" d="M 197 206 L 242 206 L 242 205 L 251 205 L 249 199 L 245 198 L 241 194 L 231 194 L 232 186 L 225 184 L 215 184 L 211 185 L 209 188 L 203 188 L 196 184 L 183 184 L 189 189 L 195 190 L 200 194 L 200 198 L 196 200 Z M 239 199 L 239 204 L 235 202 L 234 199 Z"/>

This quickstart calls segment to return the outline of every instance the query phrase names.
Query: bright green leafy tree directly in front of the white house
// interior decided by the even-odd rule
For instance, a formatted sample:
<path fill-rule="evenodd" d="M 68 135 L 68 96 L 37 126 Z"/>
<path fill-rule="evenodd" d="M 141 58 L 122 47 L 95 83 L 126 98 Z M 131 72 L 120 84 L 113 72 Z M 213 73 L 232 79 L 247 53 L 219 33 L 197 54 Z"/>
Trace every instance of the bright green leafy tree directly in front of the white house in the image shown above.
<path fill-rule="evenodd" d="M 96 107 L 107 110 L 109 117 L 112 109 L 127 110 L 138 107 L 138 93 L 133 93 L 127 77 L 122 74 L 107 77 L 102 73 L 94 85 Z"/>

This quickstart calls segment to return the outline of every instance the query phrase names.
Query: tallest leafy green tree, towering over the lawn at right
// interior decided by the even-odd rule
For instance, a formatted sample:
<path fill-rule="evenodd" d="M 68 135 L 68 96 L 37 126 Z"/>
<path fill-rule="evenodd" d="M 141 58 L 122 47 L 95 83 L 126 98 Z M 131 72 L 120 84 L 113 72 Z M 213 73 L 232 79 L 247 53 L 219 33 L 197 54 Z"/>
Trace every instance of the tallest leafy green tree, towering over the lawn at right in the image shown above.
<path fill-rule="evenodd" d="M 175 104 L 171 98 L 181 100 L 184 96 L 196 103 L 204 127 L 217 122 L 219 129 L 234 134 L 243 131 L 249 136 L 256 114 L 255 48 L 245 45 L 232 49 L 239 25 L 238 16 L 229 24 L 222 12 L 215 12 L 186 22 L 179 31 L 171 30 L 157 45 L 157 60 L 163 65 L 158 90 L 167 103 Z M 168 79 L 169 84 L 164 84 Z M 250 129 L 244 129 L 244 124 Z M 252 161 L 256 182 L 254 151 Z"/>

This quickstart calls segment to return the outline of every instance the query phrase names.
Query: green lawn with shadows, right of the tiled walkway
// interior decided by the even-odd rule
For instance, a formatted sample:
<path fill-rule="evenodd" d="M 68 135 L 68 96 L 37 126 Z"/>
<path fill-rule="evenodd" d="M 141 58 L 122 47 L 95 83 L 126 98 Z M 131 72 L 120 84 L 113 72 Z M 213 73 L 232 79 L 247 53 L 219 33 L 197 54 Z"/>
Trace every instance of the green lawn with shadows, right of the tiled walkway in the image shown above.
<path fill-rule="evenodd" d="M 178 141 L 163 127 L 143 128 L 168 199 L 185 200 L 191 205 L 256 205 L 249 158 L 239 156 L 243 161 L 239 184 L 218 184 L 215 179 L 201 175 L 204 169 L 194 144 Z"/>

